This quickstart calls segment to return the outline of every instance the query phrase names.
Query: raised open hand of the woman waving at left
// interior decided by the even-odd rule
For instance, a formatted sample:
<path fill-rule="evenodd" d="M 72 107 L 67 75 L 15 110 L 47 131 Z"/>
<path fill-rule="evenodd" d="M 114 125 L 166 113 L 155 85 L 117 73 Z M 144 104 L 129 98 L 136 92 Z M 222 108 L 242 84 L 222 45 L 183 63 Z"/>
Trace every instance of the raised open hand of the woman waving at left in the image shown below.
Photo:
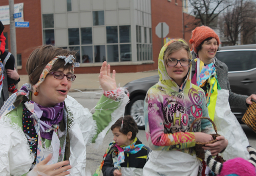
<path fill-rule="evenodd" d="M 106 61 L 102 63 L 99 84 L 104 91 L 112 91 L 116 89 L 116 71 L 113 70 L 112 77 L 110 72 L 110 64 L 106 64 Z"/>

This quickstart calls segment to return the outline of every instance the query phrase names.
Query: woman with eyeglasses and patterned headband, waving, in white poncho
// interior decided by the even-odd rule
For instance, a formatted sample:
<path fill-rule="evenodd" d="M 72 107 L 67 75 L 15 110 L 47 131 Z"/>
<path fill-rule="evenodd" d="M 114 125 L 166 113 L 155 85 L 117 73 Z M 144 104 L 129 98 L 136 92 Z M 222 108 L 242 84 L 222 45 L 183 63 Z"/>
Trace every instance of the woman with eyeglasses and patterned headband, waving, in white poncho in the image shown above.
<path fill-rule="evenodd" d="M 104 95 L 93 115 L 68 96 L 75 54 L 42 46 L 29 56 L 29 83 L 0 111 L 0 175 L 86 175 L 86 145 L 102 141 L 129 98 L 106 62 L 99 75 Z"/>

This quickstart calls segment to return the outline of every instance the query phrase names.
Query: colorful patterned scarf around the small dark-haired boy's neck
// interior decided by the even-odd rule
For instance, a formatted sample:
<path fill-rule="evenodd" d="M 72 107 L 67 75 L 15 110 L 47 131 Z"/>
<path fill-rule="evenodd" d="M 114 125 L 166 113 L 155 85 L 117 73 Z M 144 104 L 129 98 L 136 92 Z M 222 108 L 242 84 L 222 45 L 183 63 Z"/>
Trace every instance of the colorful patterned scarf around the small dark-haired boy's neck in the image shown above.
<path fill-rule="evenodd" d="M 138 151 L 141 150 L 141 148 L 144 146 L 144 144 L 135 144 L 136 141 L 137 141 L 137 137 L 134 139 L 133 143 L 131 145 L 128 145 L 128 146 L 118 146 L 116 145 L 115 142 L 111 142 L 109 144 L 109 148 L 106 149 L 106 152 L 103 156 L 103 160 L 101 161 L 98 169 L 95 171 L 95 173 L 93 174 L 93 176 L 98 176 L 100 175 L 100 171 L 104 165 L 104 160 L 106 158 L 106 156 L 108 155 L 110 149 L 112 147 L 117 147 L 118 149 L 118 152 L 117 151 L 113 151 L 113 164 L 114 164 L 114 167 L 117 168 L 117 169 L 120 169 L 121 168 L 121 163 L 124 163 L 124 152 L 125 153 L 131 153 L 131 154 L 134 154 L 134 153 L 137 153 Z"/>

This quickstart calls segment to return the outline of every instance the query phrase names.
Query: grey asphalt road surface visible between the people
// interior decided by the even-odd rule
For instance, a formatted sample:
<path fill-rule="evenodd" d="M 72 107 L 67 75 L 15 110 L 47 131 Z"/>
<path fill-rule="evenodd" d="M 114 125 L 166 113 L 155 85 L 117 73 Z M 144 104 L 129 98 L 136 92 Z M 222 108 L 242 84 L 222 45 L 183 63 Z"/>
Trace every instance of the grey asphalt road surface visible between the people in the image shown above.
<path fill-rule="evenodd" d="M 88 91 L 88 92 L 70 92 L 70 96 L 75 98 L 80 104 L 82 104 L 84 107 L 89 108 L 90 110 L 93 109 L 93 107 L 96 105 L 98 102 L 101 94 L 101 91 Z M 94 110 L 91 111 L 94 113 Z M 247 138 L 249 139 L 249 143 L 252 147 L 256 148 L 256 134 L 252 129 L 250 129 L 246 125 L 242 125 L 245 134 Z M 146 136 L 145 136 L 145 131 L 144 130 L 139 130 L 139 133 L 137 137 L 140 139 L 140 141 L 147 145 L 146 141 Z M 106 148 L 108 148 L 109 143 L 113 141 L 113 134 L 111 131 L 105 136 L 103 143 L 101 146 L 96 148 L 95 144 L 91 144 L 90 146 L 87 147 L 87 162 L 86 162 L 86 168 L 87 170 L 91 171 L 91 174 L 94 173 L 94 171 L 98 168 L 100 162 L 102 161 L 102 157 L 104 155 L 104 152 Z M 102 175 L 102 173 L 101 173 Z"/>

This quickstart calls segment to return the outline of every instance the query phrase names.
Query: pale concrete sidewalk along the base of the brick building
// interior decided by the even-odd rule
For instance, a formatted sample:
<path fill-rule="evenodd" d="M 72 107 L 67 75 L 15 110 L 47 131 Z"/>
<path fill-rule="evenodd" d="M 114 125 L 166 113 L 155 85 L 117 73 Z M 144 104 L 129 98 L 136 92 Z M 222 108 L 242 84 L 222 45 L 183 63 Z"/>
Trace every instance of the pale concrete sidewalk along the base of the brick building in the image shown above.
<path fill-rule="evenodd" d="M 148 76 L 157 75 L 158 71 L 147 71 L 147 72 L 137 72 L 137 73 L 116 73 L 116 83 L 117 86 L 124 86 L 127 82 L 145 78 Z M 76 79 L 72 82 L 72 87 L 70 92 L 74 92 L 75 89 L 81 91 L 91 91 L 100 90 L 99 88 L 99 74 L 75 74 Z M 18 88 L 23 84 L 28 82 L 28 75 L 20 75 L 20 82 L 18 83 Z"/>

